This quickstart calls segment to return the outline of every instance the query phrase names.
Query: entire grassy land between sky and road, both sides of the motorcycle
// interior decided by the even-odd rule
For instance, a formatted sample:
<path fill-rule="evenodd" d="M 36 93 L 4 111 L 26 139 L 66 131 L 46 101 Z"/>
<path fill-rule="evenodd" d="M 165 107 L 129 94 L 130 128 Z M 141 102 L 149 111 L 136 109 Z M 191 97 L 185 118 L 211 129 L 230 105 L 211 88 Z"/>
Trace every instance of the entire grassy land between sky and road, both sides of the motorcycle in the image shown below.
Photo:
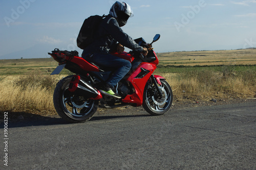
<path fill-rule="evenodd" d="M 256 97 L 256 49 L 158 56 L 155 74 L 166 78 L 175 102 Z M 55 85 L 72 74 L 64 70 L 50 76 L 56 66 L 51 58 L 0 60 L 0 112 L 56 114 L 52 102 Z"/>

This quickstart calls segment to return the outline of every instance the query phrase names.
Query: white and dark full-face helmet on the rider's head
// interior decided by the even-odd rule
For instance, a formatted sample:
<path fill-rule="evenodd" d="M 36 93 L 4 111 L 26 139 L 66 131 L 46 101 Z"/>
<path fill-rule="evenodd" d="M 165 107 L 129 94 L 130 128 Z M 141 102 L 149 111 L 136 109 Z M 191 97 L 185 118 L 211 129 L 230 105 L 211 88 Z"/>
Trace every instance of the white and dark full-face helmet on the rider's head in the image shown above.
<path fill-rule="evenodd" d="M 131 7 L 124 2 L 116 2 L 110 9 L 110 15 L 116 18 L 119 27 L 123 27 L 129 17 L 133 16 Z"/>

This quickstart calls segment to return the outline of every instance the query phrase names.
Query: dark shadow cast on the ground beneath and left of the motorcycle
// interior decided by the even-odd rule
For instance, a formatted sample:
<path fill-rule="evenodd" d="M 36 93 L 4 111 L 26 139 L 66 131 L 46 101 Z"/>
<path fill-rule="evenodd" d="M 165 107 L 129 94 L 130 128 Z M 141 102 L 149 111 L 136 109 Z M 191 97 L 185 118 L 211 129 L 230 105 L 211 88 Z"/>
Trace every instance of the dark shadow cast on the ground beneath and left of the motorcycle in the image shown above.
<path fill-rule="evenodd" d="M 23 119 L 18 119 L 22 115 Z M 96 114 L 89 122 L 97 120 L 115 119 L 115 118 L 129 118 L 129 117 L 143 117 L 151 115 L 99 115 Z M 32 114 L 32 113 L 9 113 L 8 128 L 20 128 L 31 126 L 50 126 L 50 125 L 64 125 L 71 124 L 60 117 L 49 117 L 44 115 Z M 1 117 L 2 119 L 2 117 Z M 3 122 L 0 122 L 0 128 L 4 126 Z"/>

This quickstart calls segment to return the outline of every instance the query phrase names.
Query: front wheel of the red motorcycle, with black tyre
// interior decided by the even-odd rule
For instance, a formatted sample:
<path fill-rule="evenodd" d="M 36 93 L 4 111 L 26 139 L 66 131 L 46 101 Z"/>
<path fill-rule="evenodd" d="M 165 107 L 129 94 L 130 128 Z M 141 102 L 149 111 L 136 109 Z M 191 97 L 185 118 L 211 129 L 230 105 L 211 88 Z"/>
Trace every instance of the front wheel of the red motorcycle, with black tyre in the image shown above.
<path fill-rule="evenodd" d="M 165 80 L 160 80 L 158 85 L 161 97 L 157 95 L 156 87 L 148 82 L 143 93 L 143 108 L 151 115 L 162 115 L 167 112 L 173 103 L 173 91 Z"/>

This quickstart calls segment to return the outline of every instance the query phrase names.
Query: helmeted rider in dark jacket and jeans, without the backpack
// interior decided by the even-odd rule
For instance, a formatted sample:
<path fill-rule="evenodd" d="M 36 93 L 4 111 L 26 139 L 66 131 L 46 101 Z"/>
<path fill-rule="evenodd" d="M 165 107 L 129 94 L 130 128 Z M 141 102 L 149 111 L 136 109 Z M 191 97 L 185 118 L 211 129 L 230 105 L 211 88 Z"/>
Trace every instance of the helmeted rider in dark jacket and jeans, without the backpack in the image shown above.
<path fill-rule="evenodd" d="M 132 16 L 133 12 L 128 4 L 116 2 L 111 7 L 110 14 L 101 21 L 94 42 L 82 53 L 82 58 L 87 61 L 115 70 L 99 91 L 118 99 L 121 96 L 112 89 L 129 72 L 132 65 L 130 61 L 111 55 L 111 53 L 122 53 L 124 51 L 123 46 L 126 46 L 144 56 L 147 55 L 147 48 L 141 47 L 120 28 Z"/>

